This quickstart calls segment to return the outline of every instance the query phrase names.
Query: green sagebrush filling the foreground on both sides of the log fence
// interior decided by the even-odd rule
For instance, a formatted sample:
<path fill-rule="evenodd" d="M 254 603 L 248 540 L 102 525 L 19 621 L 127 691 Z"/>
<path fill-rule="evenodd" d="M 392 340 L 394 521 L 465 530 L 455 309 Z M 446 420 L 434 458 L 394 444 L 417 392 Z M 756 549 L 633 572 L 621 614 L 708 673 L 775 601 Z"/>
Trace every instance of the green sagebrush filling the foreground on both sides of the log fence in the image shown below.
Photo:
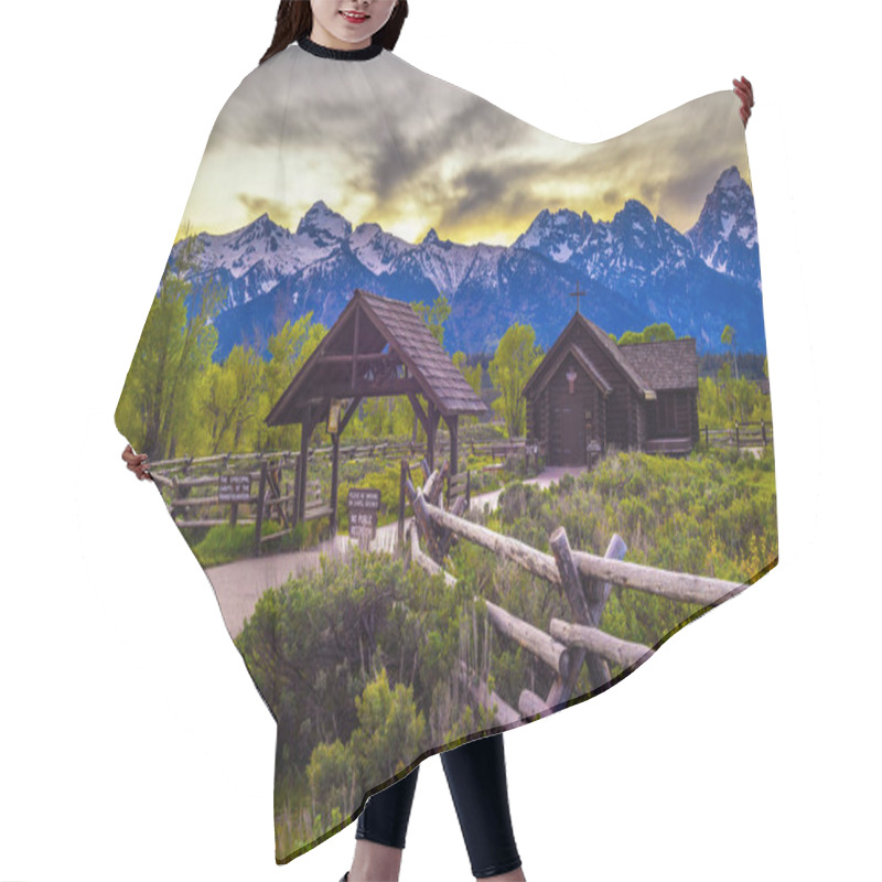
<path fill-rule="evenodd" d="M 512 482 L 495 512 L 466 517 L 546 553 L 559 526 L 573 549 L 596 555 L 619 534 L 626 560 L 734 582 L 777 555 L 770 452 L 612 453 L 546 490 Z M 560 589 L 462 540 L 447 566 L 455 587 L 357 548 L 344 561 L 323 557 L 320 570 L 265 592 L 245 623 L 237 646 L 279 724 L 277 815 L 292 841 L 330 830 L 316 818 L 345 818 L 365 787 L 426 750 L 495 725 L 460 682 L 461 662 L 513 706 L 525 687 L 550 690 L 553 671 L 495 632 L 474 598 L 548 631 L 551 619 L 573 621 Z M 614 588 L 601 626 L 655 646 L 700 611 Z M 589 689 L 583 668 L 573 697 Z"/>

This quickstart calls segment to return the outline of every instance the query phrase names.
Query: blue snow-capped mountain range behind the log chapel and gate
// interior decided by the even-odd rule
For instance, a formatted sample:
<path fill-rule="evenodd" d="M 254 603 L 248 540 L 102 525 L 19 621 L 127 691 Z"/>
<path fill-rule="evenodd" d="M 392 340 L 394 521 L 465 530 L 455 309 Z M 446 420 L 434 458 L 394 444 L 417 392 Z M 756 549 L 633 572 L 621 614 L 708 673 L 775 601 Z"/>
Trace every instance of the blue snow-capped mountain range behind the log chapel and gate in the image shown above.
<path fill-rule="evenodd" d="M 451 353 L 492 353 L 513 323 L 531 324 L 547 349 L 574 311 L 577 283 L 587 291 L 582 313 L 616 335 L 668 322 L 678 335 L 695 336 L 699 352 L 719 352 L 730 324 L 740 351 L 765 352 L 753 194 L 735 166 L 720 175 L 686 233 L 628 200 L 610 222 L 544 209 L 508 247 L 442 240 L 434 229 L 408 243 L 374 223 L 353 229 L 319 201 L 294 233 L 263 214 L 198 239 L 204 250 L 193 281 L 213 275 L 228 291 L 214 320 L 216 361 L 237 343 L 266 356 L 267 338 L 305 312 L 330 327 L 355 288 L 427 304 L 443 293 L 452 306 L 444 325 Z"/>

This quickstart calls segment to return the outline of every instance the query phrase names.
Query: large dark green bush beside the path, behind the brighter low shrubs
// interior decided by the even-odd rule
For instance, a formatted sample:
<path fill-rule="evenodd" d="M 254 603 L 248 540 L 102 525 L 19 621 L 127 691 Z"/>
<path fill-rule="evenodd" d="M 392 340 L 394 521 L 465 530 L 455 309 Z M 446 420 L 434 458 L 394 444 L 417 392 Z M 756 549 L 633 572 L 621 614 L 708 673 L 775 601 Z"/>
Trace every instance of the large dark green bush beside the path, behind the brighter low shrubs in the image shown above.
<path fill-rule="evenodd" d="M 440 576 L 355 548 L 347 562 L 323 557 L 320 570 L 260 596 L 236 645 L 291 757 L 281 770 L 287 786 L 319 743 L 349 739 L 356 698 L 384 668 L 390 688 L 411 688 L 417 710 L 430 719 L 434 687 L 450 680 L 459 657 L 460 622 L 472 605 L 466 595 L 467 585 L 451 591 Z"/>

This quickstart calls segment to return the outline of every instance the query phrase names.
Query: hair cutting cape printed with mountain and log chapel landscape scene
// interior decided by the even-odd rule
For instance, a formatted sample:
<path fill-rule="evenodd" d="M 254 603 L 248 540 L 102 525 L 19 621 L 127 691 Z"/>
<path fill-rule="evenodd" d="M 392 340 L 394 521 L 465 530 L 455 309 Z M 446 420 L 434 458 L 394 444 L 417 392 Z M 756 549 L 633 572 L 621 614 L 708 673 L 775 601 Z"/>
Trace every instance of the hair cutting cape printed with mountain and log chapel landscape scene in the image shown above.
<path fill-rule="evenodd" d="M 576 143 L 301 40 L 220 110 L 116 424 L 277 722 L 277 862 L 777 562 L 739 107 Z"/>

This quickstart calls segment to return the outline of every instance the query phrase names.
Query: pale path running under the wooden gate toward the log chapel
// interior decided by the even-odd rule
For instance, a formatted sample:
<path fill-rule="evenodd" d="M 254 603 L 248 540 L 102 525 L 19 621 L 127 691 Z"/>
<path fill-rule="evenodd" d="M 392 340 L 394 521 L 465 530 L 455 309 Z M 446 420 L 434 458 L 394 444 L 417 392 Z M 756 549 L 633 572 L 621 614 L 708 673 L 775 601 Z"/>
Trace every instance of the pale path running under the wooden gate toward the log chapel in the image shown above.
<path fill-rule="evenodd" d="M 548 487 L 560 481 L 563 474 L 578 474 L 582 467 L 550 467 L 537 477 L 525 481 L 525 484 L 536 484 Z M 471 508 L 482 508 L 490 505 L 495 509 L 502 490 L 483 493 L 472 498 Z M 408 518 L 409 520 L 410 518 Z M 377 536 L 370 544 L 374 551 L 391 551 L 398 540 L 398 524 L 387 524 L 377 528 Z M 321 542 L 315 548 L 303 551 L 283 551 L 278 555 L 266 555 L 259 558 L 237 560 L 233 563 L 223 563 L 219 567 L 208 567 L 205 570 L 208 581 L 217 595 L 220 612 L 224 616 L 227 631 L 236 637 L 241 632 L 245 620 L 254 612 L 258 598 L 268 589 L 286 582 L 291 576 L 300 576 L 310 570 L 318 570 L 321 556 L 345 557 L 349 548 L 355 545 L 348 536 L 337 535 L 333 539 Z"/>

